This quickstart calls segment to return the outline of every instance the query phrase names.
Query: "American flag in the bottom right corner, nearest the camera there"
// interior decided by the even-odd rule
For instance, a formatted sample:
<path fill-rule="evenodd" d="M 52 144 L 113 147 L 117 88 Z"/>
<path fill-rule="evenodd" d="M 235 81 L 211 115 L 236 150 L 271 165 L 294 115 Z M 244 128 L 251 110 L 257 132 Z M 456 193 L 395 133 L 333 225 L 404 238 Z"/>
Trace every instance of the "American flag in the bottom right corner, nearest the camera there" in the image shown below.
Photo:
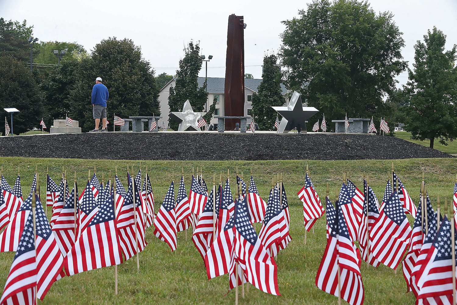
<path fill-rule="evenodd" d="M 451 243 L 452 225 L 454 222 L 451 223 L 445 216 L 423 262 L 423 273 L 416 279 L 419 288 L 418 301 L 436 297 L 446 300 L 436 304 L 452 304 L 452 251 L 455 251 Z"/>

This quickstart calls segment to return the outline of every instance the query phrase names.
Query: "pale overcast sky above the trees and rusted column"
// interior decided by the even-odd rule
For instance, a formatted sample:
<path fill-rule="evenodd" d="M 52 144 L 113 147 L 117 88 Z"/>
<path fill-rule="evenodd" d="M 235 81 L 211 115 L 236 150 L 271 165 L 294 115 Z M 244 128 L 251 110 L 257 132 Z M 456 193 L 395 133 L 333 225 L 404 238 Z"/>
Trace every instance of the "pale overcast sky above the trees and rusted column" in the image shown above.
<path fill-rule="evenodd" d="M 261 78 L 265 54 L 278 52 L 281 21 L 306 9 L 303 0 L 221 1 L 50 1 L 0 0 L 0 17 L 27 20 L 40 41 L 76 42 L 87 51 L 108 37 L 132 39 L 141 46 L 143 57 L 156 75 L 174 75 L 183 48 L 191 40 L 200 41 L 202 54 L 213 55 L 208 77 L 225 76 L 228 16 L 244 16 L 245 72 Z M 411 66 L 414 44 L 436 26 L 447 35 L 446 49 L 457 43 L 457 0 L 371 0 L 374 11 L 390 11 L 404 33 L 402 54 Z M 57 63 L 57 59 L 56 59 Z M 205 76 L 205 65 L 199 76 Z M 405 83 L 407 74 L 398 78 Z"/>

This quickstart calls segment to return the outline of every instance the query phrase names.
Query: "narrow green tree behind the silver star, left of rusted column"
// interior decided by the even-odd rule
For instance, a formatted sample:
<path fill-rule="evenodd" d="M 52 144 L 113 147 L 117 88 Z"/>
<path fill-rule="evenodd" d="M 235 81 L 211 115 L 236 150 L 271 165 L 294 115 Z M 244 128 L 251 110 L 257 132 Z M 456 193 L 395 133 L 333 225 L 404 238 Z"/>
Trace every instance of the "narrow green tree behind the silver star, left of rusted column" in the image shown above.
<path fill-rule="evenodd" d="M 168 106 L 170 112 L 182 111 L 186 100 L 191 103 L 195 112 L 203 112 L 208 100 L 206 80 L 201 88 L 198 87 L 198 72 L 202 69 L 203 59 L 200 57 L 200 45 L 192 41 L 184 48 L 184 58 L 179 61 L 176 70 L 175 86 L 170 86 Z M 170 127 L 177 130 L 178 123 L 170 121 Z"/>

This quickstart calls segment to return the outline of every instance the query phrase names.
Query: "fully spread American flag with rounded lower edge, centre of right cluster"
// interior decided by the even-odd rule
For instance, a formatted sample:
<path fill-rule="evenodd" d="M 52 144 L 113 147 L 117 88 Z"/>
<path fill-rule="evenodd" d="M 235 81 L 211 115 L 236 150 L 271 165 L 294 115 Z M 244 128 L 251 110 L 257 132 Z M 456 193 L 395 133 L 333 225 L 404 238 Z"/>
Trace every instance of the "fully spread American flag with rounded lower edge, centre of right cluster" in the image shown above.
<path fill-rule="evenodd" d="M 384 265 L 396 269 L 409 246 L 411 234 L 409 221 L 404 214 L 397 191 L 394 191 L 370 233 L 373 256 Z"/>

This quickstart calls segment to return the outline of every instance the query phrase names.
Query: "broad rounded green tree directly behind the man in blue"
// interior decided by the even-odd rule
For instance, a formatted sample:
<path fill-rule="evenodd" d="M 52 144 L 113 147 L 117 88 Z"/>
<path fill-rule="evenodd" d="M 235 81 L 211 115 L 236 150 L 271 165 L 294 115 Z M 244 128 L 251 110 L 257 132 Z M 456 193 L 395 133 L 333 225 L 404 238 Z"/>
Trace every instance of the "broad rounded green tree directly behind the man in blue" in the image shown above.
<path fill-rule="evenodd" d="M 94 128 L 90 96 L 98 76 L 109 91 L 106 107 L 109 118 L 114 113 L 121 118 L 160 115 L 154 70 L 132 40 L 104 39 L 96 44 L 90 58 L 83 58 L 78 65 L 76 80 L 69 93 L 69 114 L 80 121 L 84 131 Z"/>

